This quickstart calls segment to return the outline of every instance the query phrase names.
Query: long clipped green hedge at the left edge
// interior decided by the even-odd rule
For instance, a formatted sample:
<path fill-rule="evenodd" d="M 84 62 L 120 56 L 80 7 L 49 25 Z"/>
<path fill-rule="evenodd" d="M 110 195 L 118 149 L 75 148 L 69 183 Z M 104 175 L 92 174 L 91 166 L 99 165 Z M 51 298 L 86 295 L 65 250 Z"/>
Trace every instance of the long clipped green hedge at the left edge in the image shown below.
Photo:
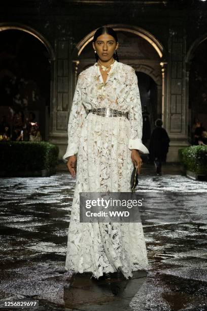
<path fill-rule="evenodd" d="M 59 149 L 46 141 L 0 142 L 1 172 L 34 172 L 48 170 L 55 173 Z"/>

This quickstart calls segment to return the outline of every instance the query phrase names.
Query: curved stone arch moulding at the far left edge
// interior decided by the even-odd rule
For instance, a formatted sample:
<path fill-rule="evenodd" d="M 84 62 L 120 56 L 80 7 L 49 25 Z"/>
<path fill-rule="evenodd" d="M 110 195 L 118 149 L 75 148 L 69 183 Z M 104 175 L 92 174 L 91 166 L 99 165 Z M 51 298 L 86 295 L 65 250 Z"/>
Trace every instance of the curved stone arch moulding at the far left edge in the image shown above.
<path fill-rule="evenodd" d="M 37 30 L 31 28 L 30 26 L 19 23 L 0 23 L 0 32 L 3 32 L 5 30 L 22 30 L 22 32 L 32 35 L 33 37 L 37 38 L 40 42 L 42 42 L 42 44 L 44 44 L 50 55 L 50 59 L 51 60 L 55 59 L 55 52 L 51 44 L 43 35 L 37 32 Z"/>

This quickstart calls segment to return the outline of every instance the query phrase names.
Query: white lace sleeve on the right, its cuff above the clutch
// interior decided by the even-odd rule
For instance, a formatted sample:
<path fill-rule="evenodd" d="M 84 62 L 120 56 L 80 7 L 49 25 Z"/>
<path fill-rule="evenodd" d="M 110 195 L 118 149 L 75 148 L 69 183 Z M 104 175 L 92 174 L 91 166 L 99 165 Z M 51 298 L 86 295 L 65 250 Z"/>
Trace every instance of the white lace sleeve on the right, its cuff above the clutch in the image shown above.
<path fill-rule="evenodd" d="M 133 79 L 131 84 L 131 90 L 128 97 L 130 101 L 130 110 L 128 112 L 128 119 L 131 126 L 131 135 L 129 140 L 129 149 L 137 149 L 143 153 L 149 153 L 146 146 L 142 143 L 143 133 L 143 117 L 142 117 L 142 105 L 140 100 L 140 90 L 137 84 L 137 76 L 133 70 Z"/>

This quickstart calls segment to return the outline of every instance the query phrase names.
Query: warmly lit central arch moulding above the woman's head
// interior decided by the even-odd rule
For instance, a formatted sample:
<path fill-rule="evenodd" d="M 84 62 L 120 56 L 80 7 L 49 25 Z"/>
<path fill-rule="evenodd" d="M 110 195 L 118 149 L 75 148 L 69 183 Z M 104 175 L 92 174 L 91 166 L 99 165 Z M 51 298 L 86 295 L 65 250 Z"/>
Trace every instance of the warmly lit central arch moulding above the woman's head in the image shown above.
<path fill-rule="evenodd" d="M 163 45 L 150 32 L 148 32 L 147 30 L 141 27 L 126 25 L 126 24 L 109 24 L 105 26 L 112 27 L 115 31 L 128 32 L 128 33 L 132 33 L 132 34 L 142 37 L 143 39 L 148 41 L 153 46 L 153 48 L 156 50 L 160 58 L 163 58 L 163 56 L 165 56 L 166 54 L 166 51 Z M 75 58 L 78 59 L 78 57 L 80 56 L 85 46 L 93 40 L 93 36 L 96 30 L 97 29 L 90 32 L 76 45 L 76 48 L 73 53 L 74 59 Z"/>

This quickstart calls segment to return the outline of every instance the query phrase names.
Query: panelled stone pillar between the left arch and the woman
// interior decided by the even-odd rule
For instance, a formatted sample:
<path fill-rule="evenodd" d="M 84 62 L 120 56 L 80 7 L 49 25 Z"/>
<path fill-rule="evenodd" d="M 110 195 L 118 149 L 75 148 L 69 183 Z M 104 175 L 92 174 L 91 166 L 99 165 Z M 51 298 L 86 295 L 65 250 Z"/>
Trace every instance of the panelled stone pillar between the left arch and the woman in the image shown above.
<path fill-rule="evenodd" d="M 72 42 L 57 39 L 51 82 L 49 141 L 58 145 L 59 158 L 65 153 L 67 123 L 73 94 Z"/>

